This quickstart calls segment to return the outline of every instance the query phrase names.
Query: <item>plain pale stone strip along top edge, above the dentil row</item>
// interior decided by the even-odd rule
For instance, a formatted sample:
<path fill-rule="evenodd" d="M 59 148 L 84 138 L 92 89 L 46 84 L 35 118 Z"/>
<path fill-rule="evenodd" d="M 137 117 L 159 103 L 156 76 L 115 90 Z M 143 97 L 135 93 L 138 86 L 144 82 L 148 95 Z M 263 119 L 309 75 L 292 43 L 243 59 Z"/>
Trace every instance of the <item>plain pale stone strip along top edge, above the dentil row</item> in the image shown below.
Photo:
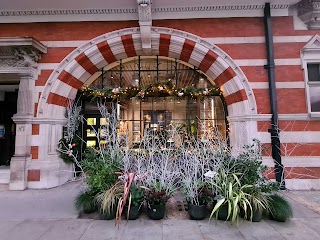
<path fill-rule="evenodd" d="M 152 0 L 152 7 L 196 7 L 196 6 L 228 6 L 228 5 L 261 5 L 266 2 L 271 4 L 295 4 L 300 0 Z M 2 10 L 39 10 L 39 9 L 118 9 L 137 8 L 136 0 L 0 0 Z"/>

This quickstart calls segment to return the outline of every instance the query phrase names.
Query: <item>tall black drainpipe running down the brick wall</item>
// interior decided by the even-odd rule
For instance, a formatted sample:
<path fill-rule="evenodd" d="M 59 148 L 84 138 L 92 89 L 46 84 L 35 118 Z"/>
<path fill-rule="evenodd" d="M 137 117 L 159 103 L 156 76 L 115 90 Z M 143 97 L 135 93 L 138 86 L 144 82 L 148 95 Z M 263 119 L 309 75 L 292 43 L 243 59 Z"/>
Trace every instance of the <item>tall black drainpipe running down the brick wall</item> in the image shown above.
<path fill-rule="evenodd" d="M 280 137 L 279 137 L 279 120 L 278 120 L 278 104 L 277 104 L 277 92 L 274 73 L 274 50 L 273 50 L 273 35 L 272 35 L 272 23 L 270 14 L 270 3 L 266 3 L 264 7 L 264 28 L 267 47 L 267 65 L 264 66 L 268 70 L 269 80 L 269 98 L 271 109 L 271 128 L 268 132 L 271 134 L 271 146 L 272 146 L 272 158 L 275 163 L 275 175 L 276 181 L 280 184 L 280 189 L 284 190 L 284 169 L 281 163 L 281 151 L 280 151 Z"/>

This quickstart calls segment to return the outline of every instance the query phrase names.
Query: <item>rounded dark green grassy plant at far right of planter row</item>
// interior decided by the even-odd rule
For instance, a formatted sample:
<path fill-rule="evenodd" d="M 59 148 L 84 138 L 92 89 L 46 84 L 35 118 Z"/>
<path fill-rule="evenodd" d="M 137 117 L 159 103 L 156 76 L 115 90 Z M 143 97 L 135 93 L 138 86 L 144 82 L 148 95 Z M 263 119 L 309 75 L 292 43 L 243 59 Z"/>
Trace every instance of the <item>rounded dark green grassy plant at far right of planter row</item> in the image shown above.
<path fill-rule="evenodd" d="M 292 217 L 290 203 L 280 195 L 270 195 L 269 206 L 271 217 L 278 222 L 285 222 Z"/>

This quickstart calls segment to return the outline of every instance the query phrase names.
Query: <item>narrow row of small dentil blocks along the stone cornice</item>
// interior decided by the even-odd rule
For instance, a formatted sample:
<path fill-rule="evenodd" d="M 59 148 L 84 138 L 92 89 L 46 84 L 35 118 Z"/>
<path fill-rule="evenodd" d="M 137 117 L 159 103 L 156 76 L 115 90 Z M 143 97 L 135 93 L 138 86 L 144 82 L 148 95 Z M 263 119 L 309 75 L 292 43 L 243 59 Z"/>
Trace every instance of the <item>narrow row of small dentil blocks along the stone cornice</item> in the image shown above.
<path fill-rule="evenodd" d="M 289 4 L 272 4 L 272 9 L 288 9 Z M 159 7 L 152 8 L 154 13 L 168 12 L 204 12 L 204 11 L 237 11 L 258 10 L 264 5 L 228 5 L 228 6 L 194 6 L 194 7 Z M 42 15 L 91 15 L 91 14 L 128 14 L 138 13 L 138 9 L 50 9 L 50 10 L 1 10 L 0 16 L 42 16 Z"/>

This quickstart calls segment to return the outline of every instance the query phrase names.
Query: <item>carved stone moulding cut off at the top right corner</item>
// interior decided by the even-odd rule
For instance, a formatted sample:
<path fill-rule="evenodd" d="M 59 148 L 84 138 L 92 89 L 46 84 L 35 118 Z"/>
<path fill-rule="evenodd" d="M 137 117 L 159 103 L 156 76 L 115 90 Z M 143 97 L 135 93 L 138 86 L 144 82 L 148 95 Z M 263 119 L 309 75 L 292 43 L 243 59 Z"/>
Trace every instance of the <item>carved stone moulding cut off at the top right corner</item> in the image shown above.
<path fill-rule="evenodd" d="M 308 29 L 320 29 L 320 0 L 302 0 L 297 7 L 298 16 Z"/>

